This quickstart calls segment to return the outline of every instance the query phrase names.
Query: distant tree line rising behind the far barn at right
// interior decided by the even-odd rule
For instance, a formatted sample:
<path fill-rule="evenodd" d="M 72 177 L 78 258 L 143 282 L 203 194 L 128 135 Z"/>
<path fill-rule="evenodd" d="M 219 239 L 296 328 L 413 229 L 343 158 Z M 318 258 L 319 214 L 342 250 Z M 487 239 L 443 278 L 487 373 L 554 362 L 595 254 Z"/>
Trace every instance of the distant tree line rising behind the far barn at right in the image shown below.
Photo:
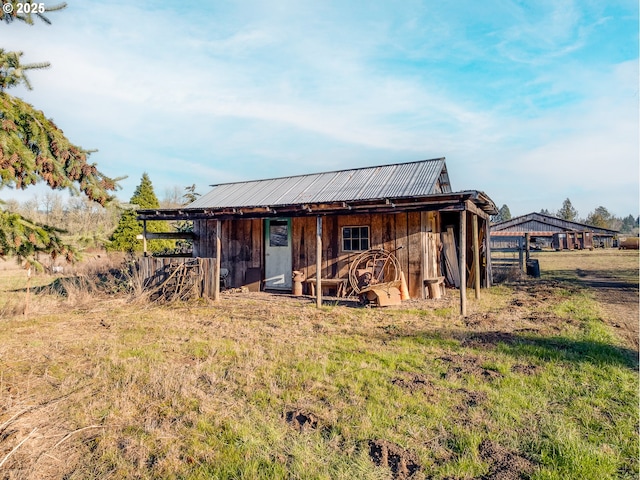
<path fill-rule="evenodd" d="M 540 213 L 544 215 L 551 215 L 553 217 L 568 220 L 570 222 L 583 223 L 592 227 L 607 228 L 609 230 L 617 230 L 620 233 L 637 233 L 640 227 L 640 216 L 634 217 L 629 214 L 626 217 L 616 217 L 609 210 L 603 206 L 597 207 L 590 212 L 586 217 L 582 218 L 578 214 L 578 210 L 573 206 L 571 200 L 568 198 L 562 202 L 562 206 L 557 211 L 549 211 L 546 208 L 540 210 Z M 511 212 L 509 207 L 504 204 L 498 210 L 497 215 L 491 217 L 492 223 L 502 222 L 510 220 Z"/>

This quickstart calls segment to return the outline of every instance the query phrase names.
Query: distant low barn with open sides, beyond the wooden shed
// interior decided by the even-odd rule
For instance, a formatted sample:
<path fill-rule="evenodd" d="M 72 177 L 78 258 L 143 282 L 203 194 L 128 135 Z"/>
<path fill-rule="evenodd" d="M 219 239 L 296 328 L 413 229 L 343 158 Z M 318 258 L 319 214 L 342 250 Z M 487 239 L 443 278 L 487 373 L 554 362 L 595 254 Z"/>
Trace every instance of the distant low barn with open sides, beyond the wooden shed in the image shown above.
<path fill-rule="evenodd" d="M 506 246 L 517 237 L 529 235 L 531 242 L 556 250 L 612 247 L 617 230 L 563 220 L 543 213 L 529 213 L 491 225 L 494 247 Z"/>

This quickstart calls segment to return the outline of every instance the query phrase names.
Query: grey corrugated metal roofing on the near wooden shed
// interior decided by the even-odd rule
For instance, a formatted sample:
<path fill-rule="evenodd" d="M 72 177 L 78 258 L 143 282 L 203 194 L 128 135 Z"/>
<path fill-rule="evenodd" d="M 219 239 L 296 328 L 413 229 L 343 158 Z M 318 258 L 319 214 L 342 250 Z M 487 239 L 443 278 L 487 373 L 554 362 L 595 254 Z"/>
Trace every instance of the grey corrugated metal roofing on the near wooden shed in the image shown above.
<path fill-rule="evenodd" d="M 440 180 L 440 182 L 438 182 Z M 450 193 L 445 159 L 215 185 L 186 208 L 349 202 Z"/>

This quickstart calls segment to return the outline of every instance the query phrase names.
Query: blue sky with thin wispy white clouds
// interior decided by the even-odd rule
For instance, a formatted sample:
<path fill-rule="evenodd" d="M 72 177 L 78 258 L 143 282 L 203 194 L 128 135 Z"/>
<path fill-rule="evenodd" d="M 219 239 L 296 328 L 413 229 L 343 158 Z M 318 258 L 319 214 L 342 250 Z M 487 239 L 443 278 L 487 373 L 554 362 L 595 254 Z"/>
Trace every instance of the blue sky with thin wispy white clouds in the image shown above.
<path fill-rule="evenodd" d="M 128 200 L 446 157 L 515 215 L 638 214 L 637 1 L 69 1 L 0 24 L 17 94 Z M 25 199 L 4 189 L 2 198 Z"/>

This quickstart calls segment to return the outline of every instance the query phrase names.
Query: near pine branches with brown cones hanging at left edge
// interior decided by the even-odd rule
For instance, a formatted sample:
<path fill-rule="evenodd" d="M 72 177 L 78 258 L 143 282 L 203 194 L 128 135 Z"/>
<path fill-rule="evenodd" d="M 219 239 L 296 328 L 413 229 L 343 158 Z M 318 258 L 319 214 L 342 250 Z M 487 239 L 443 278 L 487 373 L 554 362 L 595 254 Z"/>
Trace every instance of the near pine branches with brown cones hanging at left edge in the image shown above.
<path fill-rule="evenodd" d="M 3 0 L 0 17 L 6 23 L 21 20 L 33 24 L 33 15 L 51 23 L 43 12 L 18 15 L 16 0 Z M 21 2 L 31 3 L 31 2 Z M 64 8 L 66 4 L 45 7 L 44 11 Z M 111 179 L 87 162 L 89 152 L 73 145 L 61 130 L 39 110 L 5 92 L 17 85 L 31 88 L 26 70 L 46 68 L 48 63 L 23 64 L 22 52 L 0 49 L 0 189 L 24 189 L 44 181 L 53 189 L 82 192 L 101 205 L 113 199 L 118 179 Z M 75 259 L 76 251 L 65 245 L 60 230 L 31 222 L 22 216 L 0 210 L 0 257 L 15 255 L 38 265 L 38 253 L 64 255 Z"/>

